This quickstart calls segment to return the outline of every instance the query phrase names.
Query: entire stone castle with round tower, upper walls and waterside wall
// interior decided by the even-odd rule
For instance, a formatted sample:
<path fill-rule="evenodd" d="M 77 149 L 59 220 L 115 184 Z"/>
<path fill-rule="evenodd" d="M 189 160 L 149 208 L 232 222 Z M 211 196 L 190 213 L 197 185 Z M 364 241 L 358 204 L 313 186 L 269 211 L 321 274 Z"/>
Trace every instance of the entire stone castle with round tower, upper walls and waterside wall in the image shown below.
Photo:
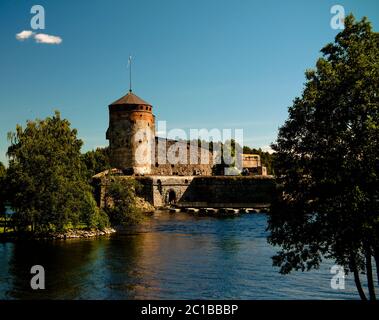
<path fill-rule="evenodd" d="M 215 162 L 215 150 L 202 148 L 197 140 L 156 137 L 153 106 L 132 90 L 108 108 L 106 138 L 112 173 L 138 180 L 143 186 L 139 196 L 155 208 L 173 204 L 198 208 L 268 206 L 275 186 L 259 155 L 242 155 L 243 175 L 220 175 L 214 170 L 219 163 Z M 98 204 L 103 206 L 107 172 L 93 178 Z"/>

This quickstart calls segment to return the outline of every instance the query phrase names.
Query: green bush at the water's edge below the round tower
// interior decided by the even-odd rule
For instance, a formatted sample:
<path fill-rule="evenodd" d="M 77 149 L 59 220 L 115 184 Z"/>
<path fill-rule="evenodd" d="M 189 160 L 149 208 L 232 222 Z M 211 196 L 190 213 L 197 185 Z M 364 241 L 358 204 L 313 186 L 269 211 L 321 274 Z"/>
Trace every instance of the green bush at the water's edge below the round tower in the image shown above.
<path fill-rule="evenodd" d="M 143 220 L 136 205 L 136 192 L 140 184 L 134 179 L 110 177 L 106 188 L 106 213 L 112 225 L 133 225 Z"/>

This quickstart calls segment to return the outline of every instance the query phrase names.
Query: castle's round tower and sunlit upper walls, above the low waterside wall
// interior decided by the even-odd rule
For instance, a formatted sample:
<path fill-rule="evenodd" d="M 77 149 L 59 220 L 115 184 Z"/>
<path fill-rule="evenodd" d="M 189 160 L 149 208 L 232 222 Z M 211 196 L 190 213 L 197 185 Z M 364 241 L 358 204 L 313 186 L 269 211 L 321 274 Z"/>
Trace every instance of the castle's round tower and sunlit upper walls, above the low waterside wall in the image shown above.
<path fill-rule="evenodd" d="M 194 145 L 156 137 L 153 106 L 132 90 L 108 108 L 111 165 L 125 175 L 210 176 L 215 172 L 217 155 L 197 141 Z M 245 174 L 266 174 L 259 155 L 242 157 Z"/>

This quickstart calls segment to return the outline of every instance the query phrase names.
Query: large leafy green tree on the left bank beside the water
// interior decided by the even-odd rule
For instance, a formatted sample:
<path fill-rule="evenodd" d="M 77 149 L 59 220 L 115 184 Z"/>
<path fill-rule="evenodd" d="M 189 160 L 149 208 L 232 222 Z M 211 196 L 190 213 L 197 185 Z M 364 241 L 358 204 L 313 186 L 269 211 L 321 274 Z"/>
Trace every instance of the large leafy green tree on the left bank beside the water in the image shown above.
<path fill-rule="evenodd" d="M 59 112 L 10 132 L 7 185 L 17 230 L 63 231 L 98 221 L 92 189 L 81 162 L 82 141 Z M 101 219 L 100 219 L 101 220 Z"/>

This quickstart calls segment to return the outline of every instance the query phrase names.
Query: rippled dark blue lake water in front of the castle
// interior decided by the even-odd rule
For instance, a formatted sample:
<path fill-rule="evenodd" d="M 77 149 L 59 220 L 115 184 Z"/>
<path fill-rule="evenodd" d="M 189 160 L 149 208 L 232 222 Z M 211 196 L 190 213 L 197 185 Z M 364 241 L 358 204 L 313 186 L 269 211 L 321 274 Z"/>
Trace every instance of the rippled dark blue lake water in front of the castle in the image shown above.
<path fill-rule="evenodd" d="M 156 212 L 129 234 L 0 243 L 0 299 L 358 299 L 349 276 L 333 290 L 330 262 L 280 275 L 267 217 Z M 30 289 L 42 265 L 46 289 Z"/>

